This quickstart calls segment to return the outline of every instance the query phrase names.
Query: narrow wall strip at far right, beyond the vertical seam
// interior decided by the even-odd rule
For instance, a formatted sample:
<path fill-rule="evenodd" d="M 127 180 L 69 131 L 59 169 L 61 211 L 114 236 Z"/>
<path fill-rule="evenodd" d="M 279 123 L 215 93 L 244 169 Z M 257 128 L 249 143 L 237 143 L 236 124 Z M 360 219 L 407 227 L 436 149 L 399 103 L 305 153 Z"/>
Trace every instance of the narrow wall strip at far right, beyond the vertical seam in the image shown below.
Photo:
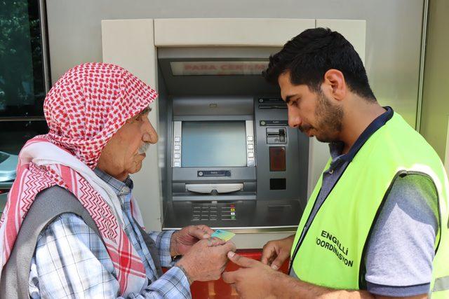
<path fill-rule="evenodd" d="M 449 120 L 449 1 L 429 3 L 421 134 L 445 160 Z M 448 161 L 446 161 L 448 162 Z"/>

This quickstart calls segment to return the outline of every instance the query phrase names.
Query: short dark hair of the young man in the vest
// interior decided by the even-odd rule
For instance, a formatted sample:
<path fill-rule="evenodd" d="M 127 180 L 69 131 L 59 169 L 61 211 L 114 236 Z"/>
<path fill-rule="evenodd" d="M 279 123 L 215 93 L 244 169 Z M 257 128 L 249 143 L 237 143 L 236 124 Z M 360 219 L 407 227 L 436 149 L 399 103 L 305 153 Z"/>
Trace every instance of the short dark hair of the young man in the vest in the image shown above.
<path fill-rule="evenodd" d="M 376 100 L 356 50 L 342 34 L 328 28 L 307 29 L 288 41 L 279 53 L 269 57 L 263 76 L 277 84 L 279 76 L 290 71 L 291 83 L 305 84 L 319 92 L 329 69 L 341 71 L 355 94 L 368 101 Z"/>

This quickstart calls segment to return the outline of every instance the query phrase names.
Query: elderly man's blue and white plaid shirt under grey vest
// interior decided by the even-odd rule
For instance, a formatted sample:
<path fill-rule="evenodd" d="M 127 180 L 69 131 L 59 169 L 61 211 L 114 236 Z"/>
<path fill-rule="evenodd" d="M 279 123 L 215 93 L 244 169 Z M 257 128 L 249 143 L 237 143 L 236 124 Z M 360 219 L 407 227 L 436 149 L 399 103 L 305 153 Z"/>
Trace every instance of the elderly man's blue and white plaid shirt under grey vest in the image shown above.
<path fill-rule="evenodd" d="M 173 230 L 149 232 L 158 249 L 162 267 L 171 267 L 161 277 L 152 256 L 131 215 L 133 181 L 114 179 L 95 169 L 122 203 L 125 232 L 138 252 L 147 274 L 147 285 L 128 298 L 191 298 L 187 277 L 179 267 L 172 267 L 170 239 Z M 58 216 L 41 232 L 29 273 L 32 298 L 117 298 L 119 281 L 107 249 L 94 230 L 75 214 Z"/>

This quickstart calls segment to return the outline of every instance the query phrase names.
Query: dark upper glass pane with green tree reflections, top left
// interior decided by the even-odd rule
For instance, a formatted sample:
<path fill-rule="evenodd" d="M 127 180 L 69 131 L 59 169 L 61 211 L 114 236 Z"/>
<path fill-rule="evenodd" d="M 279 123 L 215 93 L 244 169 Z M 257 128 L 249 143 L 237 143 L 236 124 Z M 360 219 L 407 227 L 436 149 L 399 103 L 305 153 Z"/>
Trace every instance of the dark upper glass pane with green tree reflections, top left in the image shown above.
<path fill-rule="evenodd" d="M 39 1 L 0 1 L 0 117 L 42 116 Z"/>

